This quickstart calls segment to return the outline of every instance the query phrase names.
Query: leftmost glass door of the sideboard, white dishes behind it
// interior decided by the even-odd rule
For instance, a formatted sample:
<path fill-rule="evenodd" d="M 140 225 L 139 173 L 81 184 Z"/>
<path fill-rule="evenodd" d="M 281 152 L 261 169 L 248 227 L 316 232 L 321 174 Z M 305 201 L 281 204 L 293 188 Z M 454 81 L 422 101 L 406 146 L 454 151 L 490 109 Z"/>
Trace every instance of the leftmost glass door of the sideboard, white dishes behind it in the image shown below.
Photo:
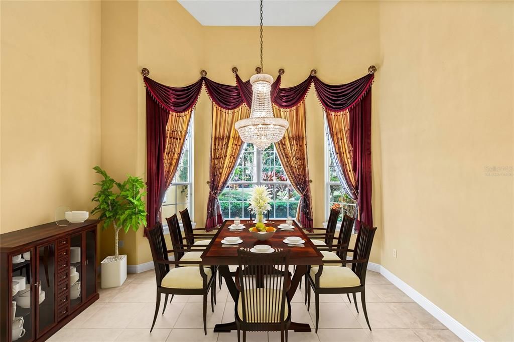
<path fill-rule="evenodd" d="M 32 273 L 34 250 L 12 255 L 12 340 L 27 342 L 34 339 L 34 288 Z"/>

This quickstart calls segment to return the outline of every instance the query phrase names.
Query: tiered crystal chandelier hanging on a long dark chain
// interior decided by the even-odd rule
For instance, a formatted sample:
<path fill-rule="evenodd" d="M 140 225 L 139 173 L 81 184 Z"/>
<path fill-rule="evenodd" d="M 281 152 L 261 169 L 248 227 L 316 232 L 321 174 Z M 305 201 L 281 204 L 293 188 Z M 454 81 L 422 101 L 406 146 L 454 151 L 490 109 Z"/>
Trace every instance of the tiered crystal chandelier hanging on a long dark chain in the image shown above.
<path fill-rule="evenodd" d="M 252 109 L 249 119 L 243 119 L 235 123 L 235 129 L 239 132 L 241 139 L 244 142 L 254 144 L 261 150 L 282 139 L 287 127 L 289 127 L 287 120 L 273 116 L 270 94 L 273 78 L 266 73 L 260 73 L 263 71 L 262 1 L 263 0 L 261 0 L 261 67 L 257 68 L 255 71 L 258 73 L 250 78 L 250 84 L 253 90 Z"/>

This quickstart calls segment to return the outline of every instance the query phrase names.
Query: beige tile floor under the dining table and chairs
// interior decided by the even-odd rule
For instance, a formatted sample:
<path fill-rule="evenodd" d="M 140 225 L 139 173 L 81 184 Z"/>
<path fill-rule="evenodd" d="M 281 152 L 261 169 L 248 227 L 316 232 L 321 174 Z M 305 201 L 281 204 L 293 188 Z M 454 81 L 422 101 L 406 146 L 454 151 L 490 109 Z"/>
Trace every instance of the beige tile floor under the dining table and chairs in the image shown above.
<path fill-rule="evenodd" d="M 311 299 L 314 300 L 314 295 Z M 175 296 L 164 315 L 159 314 L 150 334 L 155 310 L 155 273 L 152 270 L 130 274 L 121 288 L 100 290 L 100 300 L 49 341 L 237 341 L 235 332 L 218 334 L 212 331 L 218 322 L 228 322 L 234 318 L 234 302 L 226 286 L 217 289 L 214 313 L 210 311 L 210 305 L 208 307 L 207 336 L 203 331 L 201 301 L 201 296 Z M 366 303 L 373 332 L 368 330 L 364 316 L 357 313 L 346 295 L 322 295 L 320 301 L 318 334 L 289 332 L 290 341 L 460 341 L 438 320 L 375 272 L 368 271 L 366 276 Z M 357 301 L 361 311 L 360 300 Z M 314 328 L 314 303 L 307 312 L 303 302 L 302 288 L 292 299 L 292 315 L 295 321 L 308 322 Z M 280 334 L 248 333 L 247 341 L 280 341 Z"/>

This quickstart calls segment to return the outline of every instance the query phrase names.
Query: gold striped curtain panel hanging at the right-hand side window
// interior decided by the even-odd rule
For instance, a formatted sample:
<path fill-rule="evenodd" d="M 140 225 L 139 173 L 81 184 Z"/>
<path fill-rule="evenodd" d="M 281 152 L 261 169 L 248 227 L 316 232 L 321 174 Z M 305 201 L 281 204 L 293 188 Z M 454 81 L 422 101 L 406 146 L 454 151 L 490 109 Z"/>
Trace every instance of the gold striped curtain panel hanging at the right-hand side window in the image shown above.
<path fill-rule="evenodd" d="M 341 166 L 342 176 L 348 195 L 357 200 L 355 172 L 352 166 L 352 144 L 350 143 L 350 112 L 325 111 L 328 134 L 334 151 L 334 158 Z M 344 185 L 344 184 L 343 184 Z"/>

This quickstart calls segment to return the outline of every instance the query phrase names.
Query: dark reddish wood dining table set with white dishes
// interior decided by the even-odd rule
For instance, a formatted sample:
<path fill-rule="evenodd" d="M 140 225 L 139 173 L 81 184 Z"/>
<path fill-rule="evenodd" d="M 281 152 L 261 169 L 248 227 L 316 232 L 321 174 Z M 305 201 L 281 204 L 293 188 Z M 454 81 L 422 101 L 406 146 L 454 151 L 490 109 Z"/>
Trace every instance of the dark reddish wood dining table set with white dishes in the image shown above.
<path fill-rule="evenodd" d="M 289 264 L 296 265 L 295 274 L 293 274 L 291 278 L 291 286 L 287 295 L 289 299 L 295 295 L 295 292 L 298 288 L 300 281 L 302 280 L 303 275 L 307 272 L 307 265 L 319 265 L 322 263 L 323 255 L 318 251 L 316 246 L 310 241 L 310 239 L 305 235 L 303 230 L 300 228 L 297 222 L 294 222 L 295 226 L 292 231 L 284 231 L 278 229 L 279 224 L 285 223 L 285 220 L 270 220 L 270 222 L 266 223 L 266 226 L 276 227 L 277 231 L 275 234 L 268 240 L 260 241 L 254 238 L 251 233 L 248 231 L 250 227 L 253 227 L 255 224 L 250 223 L 248 221 L 241 221 L 242 224 L 245 225 L 245 229 L 243 230 L 229 230 L 228 227 L 232 224 L 233 221 L 225 220 L 221 227 L 219 227 L 217 233 L 205 249 L 204 253 L 201 255 L 202 264 L 204 265 L 217 265 L 218 272 L 221 273 L 223 278 L 225 279 L 225 283 L 227 284 L 227 288 L 232 296 L 234 302 L 237 302 L 237 297 L 239 292 L 235 286 L 234 279 L 230 274 L 229 265 L 237 265 L 237 249 L 239 248 L 252 248 L 256 244 L 268 244 L 271 248 L 280 248 L 280 249 L 289 249 Z M 223 246 L 222 240 L 227 236 L 241 236 L 243 240 L 242 243 L 232 247 L 232 246 Z M 299 236 L 305 240 L 304 246 L 295 246 L 289 247 L 287 244 L 283 242 L 284 238 L 288 236 Z M 307 323 L 295 322 L 293 321 L 294 317 L 291 316 L 291 325 L 289 326 L 289 330 L 294 330 L 296 332 L 310 332 L 310 326 Z M 232 330 L 237 330 L 235 325 L 235 317 L 234 321 L 224 324 L 217 324 L 214 327 L 214 332 L 230 332 Z"/>

